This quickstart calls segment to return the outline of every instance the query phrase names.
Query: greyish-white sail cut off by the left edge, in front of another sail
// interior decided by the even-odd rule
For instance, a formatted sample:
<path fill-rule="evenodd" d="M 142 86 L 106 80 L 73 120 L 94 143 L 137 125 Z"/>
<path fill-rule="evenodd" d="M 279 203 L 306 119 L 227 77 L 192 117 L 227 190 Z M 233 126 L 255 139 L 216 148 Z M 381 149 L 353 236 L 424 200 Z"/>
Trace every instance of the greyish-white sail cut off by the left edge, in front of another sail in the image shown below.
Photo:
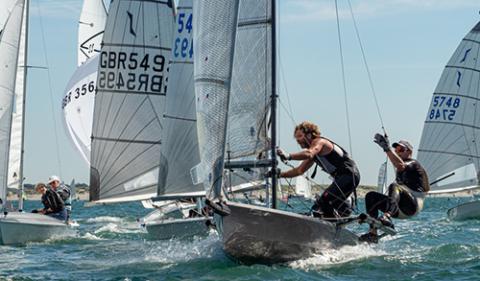
<path fill-rule="evenodd" d="M 12 113 L 15 102 L 16 76 L 24 0 L 2 1 L 0 33 L 0 198 L 6 201 Z"/>

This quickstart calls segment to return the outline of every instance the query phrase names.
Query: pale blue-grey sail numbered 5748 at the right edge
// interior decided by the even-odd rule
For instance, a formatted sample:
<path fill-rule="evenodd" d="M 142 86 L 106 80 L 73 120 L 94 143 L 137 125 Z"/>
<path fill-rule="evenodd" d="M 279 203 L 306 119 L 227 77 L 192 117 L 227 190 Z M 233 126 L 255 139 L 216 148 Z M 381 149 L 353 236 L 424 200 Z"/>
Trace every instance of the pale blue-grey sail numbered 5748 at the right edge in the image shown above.
<path fill-rule="evenodd" d="M 433 182 L 431 192 L 478 186 L 479 45 L 480 23 L 461 41 L 433 93 L 418 153 L 418 160 Z"/>

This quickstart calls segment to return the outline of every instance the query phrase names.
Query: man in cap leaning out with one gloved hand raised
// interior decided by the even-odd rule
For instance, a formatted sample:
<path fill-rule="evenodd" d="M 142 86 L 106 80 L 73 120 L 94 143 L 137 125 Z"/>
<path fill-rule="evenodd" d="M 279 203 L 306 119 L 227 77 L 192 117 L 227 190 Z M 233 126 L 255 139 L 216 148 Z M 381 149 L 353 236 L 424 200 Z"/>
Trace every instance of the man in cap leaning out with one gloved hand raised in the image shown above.
<path fill-rule="evenodd" d="M 412 159 L 413 146 L 408 141 L 400 140 L 392 145 L 392 149 L 387 136 L 375 134 L 374 142 L 387 154 L 395 168 L 396 177 L 389 185 L 387 195 L 374 191 L 367 193 L 365 206 L 371 217 L 378 218 L 383 225 L 393 228 L 391 218 L 410 218 L 422 210 L 423 199 L 430 190 L 430 184 L 425 169 L 417 160 Z M 379 211 L 383 212 L 380 218 Z M 377 231 L 370 227 L 369 232 L 360 238 L 376 243 Z"/>

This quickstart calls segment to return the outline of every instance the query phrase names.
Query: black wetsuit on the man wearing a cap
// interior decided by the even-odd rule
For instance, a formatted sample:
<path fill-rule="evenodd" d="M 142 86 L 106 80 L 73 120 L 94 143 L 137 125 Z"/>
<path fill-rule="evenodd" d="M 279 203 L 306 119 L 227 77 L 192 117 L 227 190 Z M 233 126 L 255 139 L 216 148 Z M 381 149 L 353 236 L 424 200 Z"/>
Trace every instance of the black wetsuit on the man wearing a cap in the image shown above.
<path fill-rule="evenodd" d="M 370 216 L 377 218 L 378 211 L 388 212 L 394 218 L 412 217 L 423 208 L 423 198 L 430 190 L 425 169 L 417 160 L 405 161 L 406 167 L 397 172 L 395 182 L 388 187 L 388 195 L 369 192 L 365 205 Z"/>

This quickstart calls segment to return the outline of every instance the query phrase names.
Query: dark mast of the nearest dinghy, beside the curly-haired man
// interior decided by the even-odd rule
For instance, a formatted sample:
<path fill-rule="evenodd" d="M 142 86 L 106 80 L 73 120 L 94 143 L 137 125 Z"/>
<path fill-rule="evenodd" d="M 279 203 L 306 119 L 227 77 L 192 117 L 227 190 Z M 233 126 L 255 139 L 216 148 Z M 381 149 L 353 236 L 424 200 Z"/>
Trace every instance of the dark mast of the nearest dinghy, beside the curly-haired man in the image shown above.
<path fill-rule="evenodd" d="M 272 119 L 272 128 L 271 128 L 271 155 L 272 155 L 272 208 L 277 208 L 277 161 L 276 161 L 276 147 L 277 147 L 277 91 L 276 91 L 276 21 L 275 21 L 275 0 L 271 1 L 272 3 L 272 95 L 271 98 L 271 109 L 270 109 L 270 118 Z"/>

